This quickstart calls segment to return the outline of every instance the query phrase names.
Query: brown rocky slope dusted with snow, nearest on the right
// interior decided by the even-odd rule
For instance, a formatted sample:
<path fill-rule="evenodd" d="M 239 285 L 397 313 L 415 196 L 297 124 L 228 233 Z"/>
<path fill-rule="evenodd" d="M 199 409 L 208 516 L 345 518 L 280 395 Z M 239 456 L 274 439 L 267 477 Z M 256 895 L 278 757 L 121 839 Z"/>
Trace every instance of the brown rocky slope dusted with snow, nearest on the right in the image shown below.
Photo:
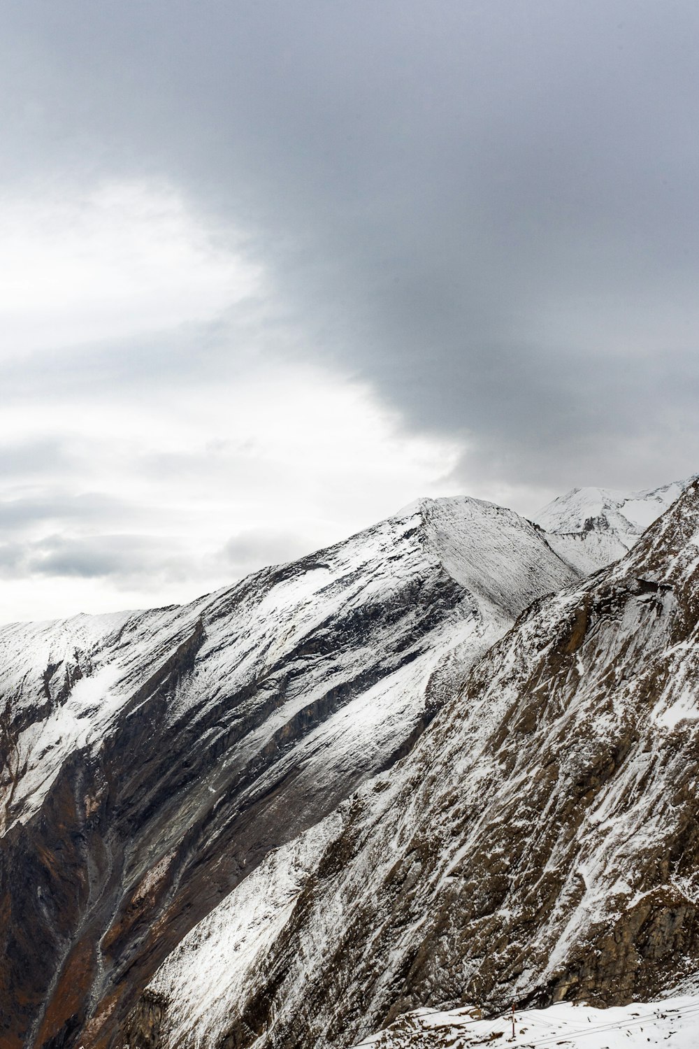
<path fill-rule="evenodd" d="M 420 1005 L 696 989 L 698 634 L 694 483 L 194 928 L 122 1044 L 349 1046 Z"/>

